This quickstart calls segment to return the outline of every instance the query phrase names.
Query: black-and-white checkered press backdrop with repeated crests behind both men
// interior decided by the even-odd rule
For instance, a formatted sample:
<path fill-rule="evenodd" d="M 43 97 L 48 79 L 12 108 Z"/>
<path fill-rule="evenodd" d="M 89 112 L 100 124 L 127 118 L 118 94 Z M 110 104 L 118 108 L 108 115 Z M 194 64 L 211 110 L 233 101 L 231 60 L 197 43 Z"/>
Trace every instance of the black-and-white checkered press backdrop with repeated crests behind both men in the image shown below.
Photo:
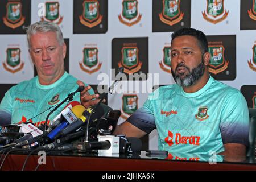
<path fill-rule="evenodd" d="M 255 0 L 1 0 L 1 98 L 36 75 L 25 27 L 38 20 L 59 24 L 68 46 L 66 71 L 94 89 L 108 88 L 121 66 L 127 76 L 151 73 L 146 81 L 123 82 L 127 92 L 108 96 L 108 105 L 122 111 L 119 123 L 143 105 L 153 86 L 174 83 L 171 32 L 183 27 L 207 35 L 212 77 L 241 90 L 248 106 L 256 107 Z M 148 144 L 157 148 L 156 131 Z"/>

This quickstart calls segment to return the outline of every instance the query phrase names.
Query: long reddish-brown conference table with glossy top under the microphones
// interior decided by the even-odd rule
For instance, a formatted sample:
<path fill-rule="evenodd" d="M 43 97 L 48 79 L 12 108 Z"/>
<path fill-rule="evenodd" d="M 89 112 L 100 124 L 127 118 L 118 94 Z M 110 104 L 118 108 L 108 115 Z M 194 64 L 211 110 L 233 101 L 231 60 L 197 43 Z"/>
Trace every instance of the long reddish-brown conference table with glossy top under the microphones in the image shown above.
<path fill-rule="evenodd" d="M 195 154 L 98 154 L 97 152 L 46 152 L 42 154 L 13 152 L 6 156 L 1 170 L 20 171 L 176 171 L 176 170 L 256 170 L 255 156 L 236 157 Z M 24 162 L 26 161 L 24 166 Z M 3 160 L 3 159 L 2 159 Z M 2 163 L 1 160 L 1 163 Z M 41 162 L 43 160 L 40 160 Z"/>

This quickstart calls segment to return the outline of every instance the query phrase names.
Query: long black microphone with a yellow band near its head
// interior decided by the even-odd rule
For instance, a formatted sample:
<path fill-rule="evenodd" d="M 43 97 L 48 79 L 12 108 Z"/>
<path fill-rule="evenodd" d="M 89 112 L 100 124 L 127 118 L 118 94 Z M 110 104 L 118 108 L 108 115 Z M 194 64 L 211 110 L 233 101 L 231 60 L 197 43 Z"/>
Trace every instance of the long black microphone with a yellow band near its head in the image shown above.
<path fill-rule="evenodd" d="M 58 139 L 60 137 L 63 137 L 69 133 L 71 133 L 72 131 L 75 131 L 77 129 L 79 129 L 81 126 L 83 126 L 86 122 L 88 122 L 88 118 L 90 116 L 90 114 L 93 113 L 93 109 L 92 108 L 88 108 L 84 111 L 84 113 L 82 113 L 82 116 L 77 119 L 76 121 L 74 121 L 73 123 L 71 123 L 70 125 L 68 125 L 67 127 L 65 127 L 63 130 L 61 130 L 55 137 L 54 139 Z M 97 121 L 99 118 L 102 117 L 102 115 L 104 114 L 103 109 L 99 109 L 98 112 L 96 112 L 96 114 L 94 114 L 94 116 L 92 117 L 93 122 Z M 89 129 L 88 129 L 89 130 Z"/>

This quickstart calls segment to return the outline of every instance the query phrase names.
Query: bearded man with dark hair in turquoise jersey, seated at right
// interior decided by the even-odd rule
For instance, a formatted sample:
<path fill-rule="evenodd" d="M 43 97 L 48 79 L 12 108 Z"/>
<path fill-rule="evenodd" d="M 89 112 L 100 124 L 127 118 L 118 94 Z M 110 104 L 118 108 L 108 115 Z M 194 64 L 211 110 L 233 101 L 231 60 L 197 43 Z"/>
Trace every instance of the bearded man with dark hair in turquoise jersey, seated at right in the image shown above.
<path fill-rule="evenodd" d="M 171 73 L 177 84 L 155 90 L 114 134 L 143 137 L 156 129 L 158 149 L 172 153 L 244 156 L 249 111 L 241 92 L 210 76 L 205 34 L 172 34 Z"/>

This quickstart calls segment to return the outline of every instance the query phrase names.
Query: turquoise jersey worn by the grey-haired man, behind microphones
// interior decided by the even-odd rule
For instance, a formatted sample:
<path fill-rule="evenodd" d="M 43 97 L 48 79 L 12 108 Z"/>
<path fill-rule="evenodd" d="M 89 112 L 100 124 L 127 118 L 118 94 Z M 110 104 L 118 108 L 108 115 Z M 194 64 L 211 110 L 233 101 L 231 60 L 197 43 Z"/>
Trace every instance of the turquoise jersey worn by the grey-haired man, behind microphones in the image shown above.
<path fill-rule="evenodd" d="M 51 85 L 41 85 L 38 76 L 20 82 L 10 88 L 1 101 L 0 125 L 25 121 L 33 122 L 36 126 L 42 125 L 50 110 L 78 88 L 76 82 L 77 79 L 67 72 Z M 94 94 L 92 89 L 89 93 Z M 80 93 L 76 93 L 72 101 L 80 102 Z M 53 112 L 47 123 L 52 121 L 67 104 L 68 102 L 64 103 Z M 52 108 L 48 110 L 50 107 Z"/>

